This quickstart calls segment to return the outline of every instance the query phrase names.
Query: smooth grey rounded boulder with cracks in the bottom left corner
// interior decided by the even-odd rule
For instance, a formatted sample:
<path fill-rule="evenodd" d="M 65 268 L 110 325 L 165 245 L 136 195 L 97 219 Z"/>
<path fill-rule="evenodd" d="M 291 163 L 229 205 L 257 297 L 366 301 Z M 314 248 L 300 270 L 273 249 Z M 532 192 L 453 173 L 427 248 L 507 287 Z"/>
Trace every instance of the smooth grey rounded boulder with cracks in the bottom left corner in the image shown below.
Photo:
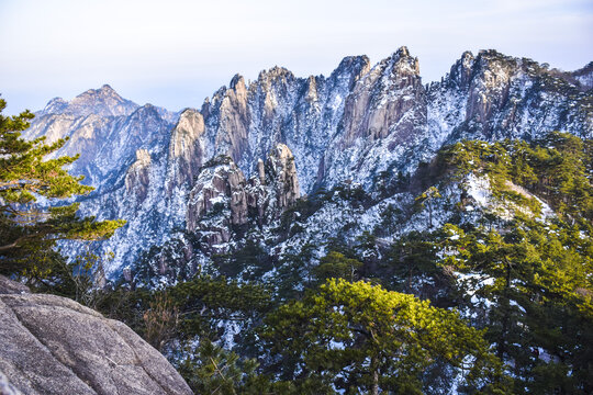
<path fill-rule="evenodd" d="M 191 394 L 126 325 L 0 275 L 0 372 L 23 394 Z"/>

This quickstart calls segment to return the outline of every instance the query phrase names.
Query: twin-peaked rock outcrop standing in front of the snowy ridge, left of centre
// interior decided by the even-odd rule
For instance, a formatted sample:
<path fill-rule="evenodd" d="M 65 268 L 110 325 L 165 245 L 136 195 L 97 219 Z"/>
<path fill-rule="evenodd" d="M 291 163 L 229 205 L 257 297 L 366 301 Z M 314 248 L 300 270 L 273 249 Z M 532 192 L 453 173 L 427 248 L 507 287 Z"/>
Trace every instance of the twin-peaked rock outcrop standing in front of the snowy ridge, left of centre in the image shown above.
<path fill-rule="evenodd" d="M 256 221 L 259 226 L 278 219 L 300 198 L 294 157 L 279 144 L 248 180 L 227 156 L 220 156 L 200 172 L 190 192 L 187 230 L 216 250 L 228 242 L 233 227 Z"/>

